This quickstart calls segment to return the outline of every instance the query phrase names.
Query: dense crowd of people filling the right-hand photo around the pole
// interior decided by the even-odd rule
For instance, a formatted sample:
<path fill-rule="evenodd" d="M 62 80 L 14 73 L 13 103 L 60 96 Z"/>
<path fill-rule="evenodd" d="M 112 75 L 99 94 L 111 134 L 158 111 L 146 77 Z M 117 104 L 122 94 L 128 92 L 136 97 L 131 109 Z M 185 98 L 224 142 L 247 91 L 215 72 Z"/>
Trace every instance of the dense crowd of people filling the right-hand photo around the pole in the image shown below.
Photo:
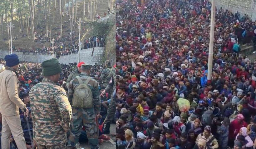
<path fill-rule="evenodd" d="M 255 44 L 255 21 L 216 9 L 208 74 L 209 1 L 117 0 L 116 9 L 119 149 L 256 147 L 256 60 L 239 53 Z"/>

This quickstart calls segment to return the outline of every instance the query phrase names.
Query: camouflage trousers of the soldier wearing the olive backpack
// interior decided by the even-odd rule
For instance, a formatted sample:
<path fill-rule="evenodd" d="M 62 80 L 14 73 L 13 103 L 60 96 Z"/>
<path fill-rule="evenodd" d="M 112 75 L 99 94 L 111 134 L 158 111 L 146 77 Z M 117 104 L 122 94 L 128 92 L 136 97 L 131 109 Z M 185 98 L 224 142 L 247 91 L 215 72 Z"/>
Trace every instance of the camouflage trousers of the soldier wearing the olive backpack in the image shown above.
<path fill-rule="evenodd" d="M 85 128 L 91 149 L 98 149 L 99 141 L 97 137 L 95 112 L 93 108 L 72 108 L 71 132 L 67 147 L 76 147 L 76 143 L 79 141 L 81 134 L 82 126 Z"/>

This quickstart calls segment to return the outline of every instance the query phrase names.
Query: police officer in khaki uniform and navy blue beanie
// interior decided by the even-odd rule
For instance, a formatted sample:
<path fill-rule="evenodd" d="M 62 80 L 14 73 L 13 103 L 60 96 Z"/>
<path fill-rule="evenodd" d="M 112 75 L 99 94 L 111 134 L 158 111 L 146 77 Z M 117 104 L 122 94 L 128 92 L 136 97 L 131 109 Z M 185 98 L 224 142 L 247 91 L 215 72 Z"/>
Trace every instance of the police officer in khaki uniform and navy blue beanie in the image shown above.
<path fill-rule="evenodd" d="M 10 148 L 10 136 L 14 137 L 18 149 L 26 149 L 25 138 L 21 127 L 19 108 L 28 115 L 26 104 L 19 98 L 19 85 L 17 70 L 19 59 L 16 54 L 6 55 L 5 70 L 0 73 L 0 112 L 2 114 L 2 149 Z"/>

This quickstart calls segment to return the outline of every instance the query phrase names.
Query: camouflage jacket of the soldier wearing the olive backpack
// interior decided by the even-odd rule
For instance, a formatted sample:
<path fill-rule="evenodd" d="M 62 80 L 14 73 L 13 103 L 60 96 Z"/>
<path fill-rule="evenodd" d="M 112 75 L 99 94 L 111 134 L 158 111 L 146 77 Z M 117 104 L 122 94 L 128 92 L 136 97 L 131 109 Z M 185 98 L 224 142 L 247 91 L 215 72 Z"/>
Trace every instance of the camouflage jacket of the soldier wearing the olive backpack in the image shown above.
<path fill-rule="evenodd" d="M 79 76 L 80 76 L 81 80 L 83 82 L 85 82 L 85 80 L 86 80 L 85 76 L 88 76 L 88 75 L 85 72 L 82 72 Z M 72 103 L 74 90 L 78 85 L 79 85 L 79 82 L 76 78 L 71 80 L 71 82 L 69 83 L 67 97 L 68 97 L 68 101 L 71 103 Z M 100 113 L 101 100 L 100 100 L 99 84 L 95 79 L 91 79 L 87 85 L 91 88 L 94 108 L 95 108 L 96 112 Z"/>

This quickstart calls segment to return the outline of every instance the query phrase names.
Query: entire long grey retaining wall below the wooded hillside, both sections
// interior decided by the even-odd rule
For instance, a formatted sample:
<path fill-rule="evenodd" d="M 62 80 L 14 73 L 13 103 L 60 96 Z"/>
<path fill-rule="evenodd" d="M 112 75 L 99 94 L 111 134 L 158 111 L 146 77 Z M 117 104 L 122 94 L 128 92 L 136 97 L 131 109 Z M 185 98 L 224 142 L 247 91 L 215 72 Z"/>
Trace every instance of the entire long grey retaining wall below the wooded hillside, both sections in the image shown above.
<path fill-rule="evenodd" d="M 80 61 L 83 61 L 85 63 L 88 63 L 90 65 L 102 64 L 104 62 L 104 54 L 105 50 L 103 47 L 95 47 L 93 56 L 91 56 L 92 49 L 83 49 L 81 50 L 80 54 Z M 50 55 L 40 55 L 40 54 L 32 54 L 32 53 L 26 53 L 23 54 L 22 52 L 13 52 L 19 56 L 20 61 L 28 61 L 28 62 L 34 62 L 34 63 L 42 63 L 43 61 L 49 60 L 52 58 Z M 9 54 L 9 51 L 6 50 L 0 50 L 0 59 L 4 59 L 4 56 Z M 78 62 L 78 54 L 70 54 L 66 56 L 60 56 L 59 63 L 68 64 L 68 63 L 74 63 Z"/>

